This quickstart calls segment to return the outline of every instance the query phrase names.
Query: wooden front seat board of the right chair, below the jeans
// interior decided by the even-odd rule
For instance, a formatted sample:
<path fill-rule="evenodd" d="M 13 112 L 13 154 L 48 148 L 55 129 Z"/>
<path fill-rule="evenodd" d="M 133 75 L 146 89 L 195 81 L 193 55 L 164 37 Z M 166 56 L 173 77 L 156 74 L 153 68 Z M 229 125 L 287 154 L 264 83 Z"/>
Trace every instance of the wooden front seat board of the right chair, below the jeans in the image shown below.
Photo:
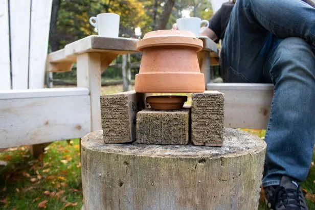
<path fill-rule="evenodd" d="M 272 84 L 208 83 L 207 89 L 224 93 L 225 127 L 266 129 Z"/>

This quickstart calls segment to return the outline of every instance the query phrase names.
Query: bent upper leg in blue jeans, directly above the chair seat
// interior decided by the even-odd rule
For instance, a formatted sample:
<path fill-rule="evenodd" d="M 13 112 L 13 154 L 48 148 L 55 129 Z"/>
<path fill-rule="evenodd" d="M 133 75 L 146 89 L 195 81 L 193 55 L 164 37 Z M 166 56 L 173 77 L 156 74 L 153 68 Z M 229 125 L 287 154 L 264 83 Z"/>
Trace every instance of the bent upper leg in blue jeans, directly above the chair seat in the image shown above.
<path fill-rule="evenodd" d="M 315 8 L 301 0 L 237 0 L 222 43 L 224 80 L 264 82 L 262 66 L 275 37 L 301 37 L 315 49 Z"/>

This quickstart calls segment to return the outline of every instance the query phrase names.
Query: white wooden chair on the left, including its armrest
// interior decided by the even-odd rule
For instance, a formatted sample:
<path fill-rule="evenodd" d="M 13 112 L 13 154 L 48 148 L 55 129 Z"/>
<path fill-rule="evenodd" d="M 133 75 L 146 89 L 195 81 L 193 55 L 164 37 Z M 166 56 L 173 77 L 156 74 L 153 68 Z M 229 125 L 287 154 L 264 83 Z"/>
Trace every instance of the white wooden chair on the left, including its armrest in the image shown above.
<path fill-rule="evenodd" d="M 101 129 L 101 74 L 137 51 L 137 39 L 88 36 L 47 56 L 51 5 L 0 0 L 0 148 L 42 148 Z M 45 71 L 71 71 L 75 62 L 76 88 L 43 88 Z"/>

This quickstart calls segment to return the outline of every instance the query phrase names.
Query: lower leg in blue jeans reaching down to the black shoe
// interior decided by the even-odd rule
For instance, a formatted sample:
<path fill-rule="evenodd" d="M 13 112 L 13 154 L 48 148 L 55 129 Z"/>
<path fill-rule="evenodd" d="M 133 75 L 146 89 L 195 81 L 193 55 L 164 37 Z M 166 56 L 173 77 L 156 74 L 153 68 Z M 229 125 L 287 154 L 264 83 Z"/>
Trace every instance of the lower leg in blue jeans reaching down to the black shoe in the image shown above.
<path fill-rule="evenodd" d="M 267 56 L 264 69 L 275 90 L 262 183 L 278 185 L 282 175 L 302 181 L 315 140 L 315 55 L 302 38 L 286 38 Z"/>

